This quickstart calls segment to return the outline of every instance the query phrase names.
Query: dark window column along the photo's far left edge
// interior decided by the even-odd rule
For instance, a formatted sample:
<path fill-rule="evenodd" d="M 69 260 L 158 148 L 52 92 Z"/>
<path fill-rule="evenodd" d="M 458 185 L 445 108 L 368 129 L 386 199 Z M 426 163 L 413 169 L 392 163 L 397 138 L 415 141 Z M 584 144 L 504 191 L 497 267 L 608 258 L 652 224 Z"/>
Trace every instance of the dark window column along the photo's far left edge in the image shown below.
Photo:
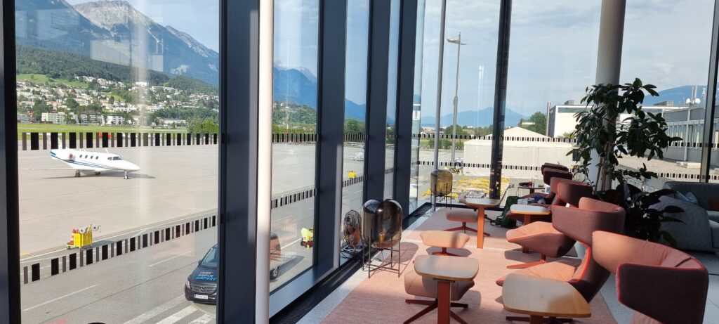
<path fill-rule="evenodd" d="M 0 100 L 0 323 L 20 323 L 19 211 L 17 195 L 17 111 L 14 1 L 2 1 L 2 86 Z"/>

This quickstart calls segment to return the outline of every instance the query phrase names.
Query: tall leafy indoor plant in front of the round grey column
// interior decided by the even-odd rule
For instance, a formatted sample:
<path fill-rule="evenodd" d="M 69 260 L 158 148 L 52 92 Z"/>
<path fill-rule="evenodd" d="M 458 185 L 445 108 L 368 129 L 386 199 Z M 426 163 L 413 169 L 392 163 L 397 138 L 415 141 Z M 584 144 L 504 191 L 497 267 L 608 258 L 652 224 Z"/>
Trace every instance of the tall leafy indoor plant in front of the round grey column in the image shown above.
<path fill-rule="evenodd" d="M 614 180 L 623 183 L 626 177 L 656 177 L 646 165 L 638 170 L 617 168 L 620 158 L 662 158 L 664 148 L 672 141 L 682 140 L 667 135 L 667 122 L 661 114 L 641 109 L 646 94 L 659 96 L 654 88 L 636 78 L 631 84 L 597 84 L 585 90 L 587 94 L 582 103 L 587 104 L 587 109 L 574 114 L 577 125 L 573 135 L 577 145 L 569 154 L 579 156 L 578 172 L 594 184 L 595 192 L 610 189 Z M 621 114 L 628 117 L 620 120 Z M 589 176 L 592 163 L 599 170 L 595 179 Z"/>

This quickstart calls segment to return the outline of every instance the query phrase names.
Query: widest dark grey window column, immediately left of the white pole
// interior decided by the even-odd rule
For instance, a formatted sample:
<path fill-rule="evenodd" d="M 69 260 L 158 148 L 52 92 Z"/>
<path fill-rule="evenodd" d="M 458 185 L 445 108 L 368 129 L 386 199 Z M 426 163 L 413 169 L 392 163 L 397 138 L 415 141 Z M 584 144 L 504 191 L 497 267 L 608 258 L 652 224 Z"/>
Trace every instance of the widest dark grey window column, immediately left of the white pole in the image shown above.
<path fill-rule="evenodd" d="M 260 0 L 220 1 L 218 323 L 255 322 L 259 15 Z"/>

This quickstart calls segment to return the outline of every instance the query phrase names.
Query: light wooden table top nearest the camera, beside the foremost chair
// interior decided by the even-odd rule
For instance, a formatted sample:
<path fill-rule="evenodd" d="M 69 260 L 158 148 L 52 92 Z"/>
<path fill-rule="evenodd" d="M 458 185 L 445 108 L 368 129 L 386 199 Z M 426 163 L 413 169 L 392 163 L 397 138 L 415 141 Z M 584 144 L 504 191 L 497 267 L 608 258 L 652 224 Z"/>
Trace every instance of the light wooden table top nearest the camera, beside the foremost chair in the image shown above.
<path fill-rule="evenodd" d="M 555 279 L 509 274 L 502 287 L 504 309 L 554 318 L 588 318 L 592 310 L 571 284 Z"/>

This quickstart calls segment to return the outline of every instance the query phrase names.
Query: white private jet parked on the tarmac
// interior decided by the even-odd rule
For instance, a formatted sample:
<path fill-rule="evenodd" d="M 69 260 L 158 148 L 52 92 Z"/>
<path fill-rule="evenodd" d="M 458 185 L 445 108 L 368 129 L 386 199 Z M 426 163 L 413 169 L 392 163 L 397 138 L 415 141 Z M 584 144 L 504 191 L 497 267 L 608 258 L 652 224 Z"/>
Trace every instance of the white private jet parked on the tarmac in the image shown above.
<path fill-rule="evenodd" d="M 124 161 L 117 154 L 89 152 L 86 150 L 57 149 L 50 150 L 50 157 L 68 164 L 70 168 L 51 168 L 47 170 L 74 170 L 75 176 L 81 172 L 94 172 L 99 175 L 102 171 L 124 171 L 124 179 L 129 179 L 127 172 L 138 171 L 139 166 Z"/>

